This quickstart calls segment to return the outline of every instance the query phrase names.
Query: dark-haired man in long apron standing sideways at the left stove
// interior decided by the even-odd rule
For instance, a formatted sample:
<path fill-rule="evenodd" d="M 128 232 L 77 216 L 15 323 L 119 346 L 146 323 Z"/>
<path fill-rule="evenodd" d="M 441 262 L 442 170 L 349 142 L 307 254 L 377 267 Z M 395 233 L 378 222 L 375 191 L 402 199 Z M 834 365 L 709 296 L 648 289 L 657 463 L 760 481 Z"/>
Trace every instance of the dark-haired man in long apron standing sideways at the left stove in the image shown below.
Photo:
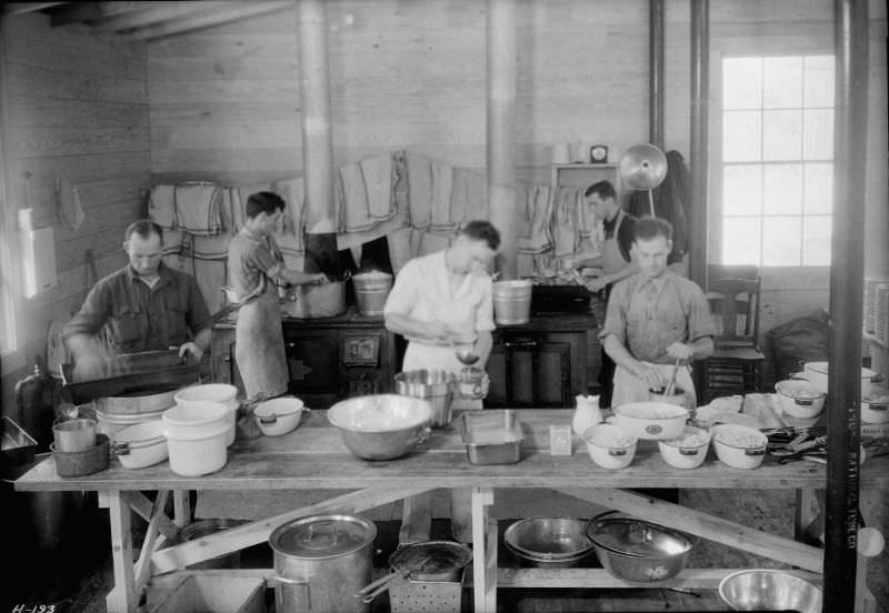
<path fill-rule="evenodd" d="M 308 274 L 284 268 L 272 235 L 283 214 L 284 201 L 272 192 L 258 192 L 247 200 L 247 224 L 229 244 L 229 282 L 240 308 L 234 329 L 234 360 L 243 380 L 247 404 L 287 392 L 288 371 L 281 333 L 281 308 L 277 280 L 284 283 L 321 284 L 322 273 Z M 242 420 L 246 434 L 256 434 L 252 420 Z"/>

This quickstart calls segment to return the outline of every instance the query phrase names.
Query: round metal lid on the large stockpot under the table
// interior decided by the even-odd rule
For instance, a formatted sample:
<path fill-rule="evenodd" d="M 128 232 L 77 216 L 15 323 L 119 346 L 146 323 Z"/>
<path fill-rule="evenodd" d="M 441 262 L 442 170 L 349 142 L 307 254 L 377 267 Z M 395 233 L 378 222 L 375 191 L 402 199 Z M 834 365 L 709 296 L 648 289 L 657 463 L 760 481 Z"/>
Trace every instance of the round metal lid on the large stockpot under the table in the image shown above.
<path fill-rule="evenodd" d="M 294 557 L 336 557 L 356 552 L 377 536 L 377 526 L 356 515 L 313 515 L 278 526 L 269 545 Z"/>

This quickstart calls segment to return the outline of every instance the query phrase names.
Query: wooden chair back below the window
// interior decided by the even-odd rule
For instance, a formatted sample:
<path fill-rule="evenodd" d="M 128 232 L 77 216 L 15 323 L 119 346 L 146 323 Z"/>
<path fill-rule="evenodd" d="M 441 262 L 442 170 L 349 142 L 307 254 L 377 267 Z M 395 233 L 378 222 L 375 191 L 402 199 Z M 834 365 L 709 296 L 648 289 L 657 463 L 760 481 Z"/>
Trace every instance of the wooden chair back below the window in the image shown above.
<path fill-rule="evenodd" d="M 716 346 L 757 346 L 760 278 L 710 279 L 707 300 L 717 325 Z"/>

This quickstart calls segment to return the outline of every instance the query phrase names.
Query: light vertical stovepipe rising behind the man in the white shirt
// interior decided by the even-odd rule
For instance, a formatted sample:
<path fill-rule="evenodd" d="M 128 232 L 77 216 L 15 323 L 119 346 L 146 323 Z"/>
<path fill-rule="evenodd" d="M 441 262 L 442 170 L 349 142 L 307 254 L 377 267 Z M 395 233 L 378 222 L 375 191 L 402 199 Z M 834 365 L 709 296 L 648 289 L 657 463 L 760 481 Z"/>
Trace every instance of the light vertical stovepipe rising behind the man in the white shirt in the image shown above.
<path fill-rule="evenodd" d="M 516 0 L 488 0 L 488 211 L 500 231 L 499 270 L 518 274 L 516 243 Z"/>

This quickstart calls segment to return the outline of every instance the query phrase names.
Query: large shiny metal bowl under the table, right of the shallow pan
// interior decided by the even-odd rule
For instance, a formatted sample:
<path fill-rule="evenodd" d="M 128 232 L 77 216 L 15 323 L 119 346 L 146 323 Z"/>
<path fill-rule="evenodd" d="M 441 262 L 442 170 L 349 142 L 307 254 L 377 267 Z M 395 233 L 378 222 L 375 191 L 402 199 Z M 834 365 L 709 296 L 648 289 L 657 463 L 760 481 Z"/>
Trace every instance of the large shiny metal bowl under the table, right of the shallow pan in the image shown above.
<path fill-rule="evenodd" d="M 645 520 L 603 513 L 590 520 L 587 536 L 602 567 L 618 579 L 655 583 L 686 567 L 691 536 Z"/>

